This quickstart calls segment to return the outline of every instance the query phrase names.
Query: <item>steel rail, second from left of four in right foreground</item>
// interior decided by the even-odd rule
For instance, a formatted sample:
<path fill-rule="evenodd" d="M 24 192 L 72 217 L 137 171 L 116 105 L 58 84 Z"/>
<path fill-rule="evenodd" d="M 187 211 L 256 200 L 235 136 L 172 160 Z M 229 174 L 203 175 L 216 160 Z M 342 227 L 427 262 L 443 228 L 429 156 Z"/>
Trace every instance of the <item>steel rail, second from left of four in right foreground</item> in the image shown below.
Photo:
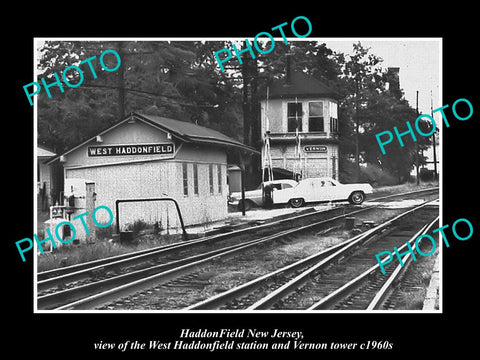
<path fill-rule="evenodd" d="M 418 205 L 396 217 L 393 219 L 387 220 L 386 222 L 382 223 L 381 225 L 378 225 L 370 230 L 367 230 L 364 232 L 363 236 L 359 237 L 355 241 L 350 242 L 348 245 L 342 247 L 340 250 L 336 251 L 335 253 L 331 254 L 330 256 L 326 257 L 316 265 L 308 268 L 306 271 L 302 272 L 300 275 L 296 276 L 294 279 L 290 280 L 283 286 L 279 287 L 278 289 L 272 291 L 269 293 L 267 296 L 262 298 L 261 300 L 257 301 L 255 304 L 251 305 L 248 307 L 248 310 L 265 310 L 271 308 L 276 302 L 280 301 L 293 291 L 295 291 L 298 287 L 303 285 L 305 282 L 307 282 L 310 277 L 317 271 L 327 267 L 330 263 L 333 261 L 343 257 L 346 255 L 347 251 L 353 249 L 356 246 L 361 245 L 363 242 L 367 240 L 371 240 L 371 237 L 378 234 L 380 231 L 386 229 L 388 226 L 392 225 L 394 222 L 404 218 L 405 216 L 410 215 L 414 211 L 417 211 L 420 208 L 423 208 L 432 201 L 426 201 L 423 202 L 421 205 Z"/>

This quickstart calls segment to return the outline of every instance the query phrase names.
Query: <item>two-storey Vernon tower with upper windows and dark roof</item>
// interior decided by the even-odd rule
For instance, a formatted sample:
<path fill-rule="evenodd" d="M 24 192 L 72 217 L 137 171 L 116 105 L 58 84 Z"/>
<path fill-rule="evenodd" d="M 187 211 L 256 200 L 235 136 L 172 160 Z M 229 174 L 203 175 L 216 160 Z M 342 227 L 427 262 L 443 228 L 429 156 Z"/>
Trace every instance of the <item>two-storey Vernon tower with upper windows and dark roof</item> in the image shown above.
<path fill-rule="evenodd" d="M 338 99 L 331 88 L 287 65 L 260 101 L 262 164 L 300 178 L 338 179 Z"/>

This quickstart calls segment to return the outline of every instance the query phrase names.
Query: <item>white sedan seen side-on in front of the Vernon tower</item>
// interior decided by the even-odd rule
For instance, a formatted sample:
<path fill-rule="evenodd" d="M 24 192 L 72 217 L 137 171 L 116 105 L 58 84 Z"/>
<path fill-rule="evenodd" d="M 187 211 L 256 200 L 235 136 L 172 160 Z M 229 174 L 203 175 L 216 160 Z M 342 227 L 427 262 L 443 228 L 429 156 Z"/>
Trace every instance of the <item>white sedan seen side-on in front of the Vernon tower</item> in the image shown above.
<path fill-rule="evenodd" d="M 329 177 L 300 180 L 289 189 L 273 190 L 274 204 L 289 204 L 300 207 L 308 202 L 349 201 L 360 205 L 366 194 L 373 193 L 370 184 L 340 184 Z"/>

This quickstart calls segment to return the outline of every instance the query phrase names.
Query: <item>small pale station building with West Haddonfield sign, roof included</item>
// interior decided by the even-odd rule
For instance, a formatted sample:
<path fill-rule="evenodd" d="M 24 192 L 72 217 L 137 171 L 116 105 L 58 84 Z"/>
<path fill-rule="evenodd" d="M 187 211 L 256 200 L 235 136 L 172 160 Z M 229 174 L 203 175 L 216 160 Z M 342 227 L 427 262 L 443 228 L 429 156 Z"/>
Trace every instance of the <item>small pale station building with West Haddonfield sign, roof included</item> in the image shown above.
<path fill-rule="evenodd" d="M 238 154 L 258 151 L 190 122 L 131 113 L 49 164 L 63 164 L 65 183 L 95 183 L 97 206 L 115 212 L 116 200 L 167 196 L 178 202 L 185 225 L 193 225 L 227 216 L 227 166 Z M 138 220 L 163 229 L 180 226 L 173 203 L 119 205 L 121 231 Z"/>

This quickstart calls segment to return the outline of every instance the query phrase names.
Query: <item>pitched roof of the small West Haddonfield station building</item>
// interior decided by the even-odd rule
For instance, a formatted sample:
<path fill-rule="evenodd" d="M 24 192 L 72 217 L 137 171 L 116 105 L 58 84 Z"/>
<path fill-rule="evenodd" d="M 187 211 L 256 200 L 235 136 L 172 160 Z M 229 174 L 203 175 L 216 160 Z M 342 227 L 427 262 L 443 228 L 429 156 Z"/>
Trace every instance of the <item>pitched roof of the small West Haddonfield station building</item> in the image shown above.
<path fill-rule="evenodd" d="M 110 130 L 116 128 L 117 126 L 122 125 L 123 123 L 130 121 L 132 119 L 142 121 L 147 123 L 154 128 L 157 128 L 164 132 L 169 132 L 173 137 L 179 139 L 180 141 L 193 143 L 193 144 L 202 144 L 202 145 L 213 145 L 220 146 L 229 149 L 240 150 L 249 154 L 260 154 L 256 149 L 247 146 L 240 141 L 232 139 L 225 134 L 222 134 L 219 131 L 207 128 L 205 126 L 200 126 L 193 124 L 187 121 L 174 120 L 166 117 L 155 116 L 155 115 L 146 115 L 137 112 L 131 112 L 125 119 L 110 125 L 107 129 L 95 134 L 89 139 L 81 142 L 80 144 L 68 149 L 63 154 L 56 156 L 51 159 L 48 163 L 52 163 L 60 158 L 60 156 L 67 155 L 68 153 L 88 144 L 91 141 L 94 141 L 97 136 L 101 136 Z"/>

